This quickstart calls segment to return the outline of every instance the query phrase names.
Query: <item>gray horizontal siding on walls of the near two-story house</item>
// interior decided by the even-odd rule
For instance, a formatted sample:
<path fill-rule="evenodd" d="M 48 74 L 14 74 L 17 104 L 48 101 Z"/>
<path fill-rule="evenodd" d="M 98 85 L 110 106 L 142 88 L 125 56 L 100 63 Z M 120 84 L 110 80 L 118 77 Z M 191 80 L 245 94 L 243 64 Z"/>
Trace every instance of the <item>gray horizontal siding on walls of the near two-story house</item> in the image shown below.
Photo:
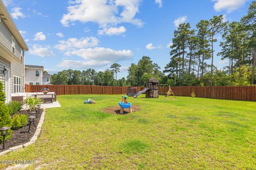
<path fill-rule="evenodd" d="M 15 39 L 15 38 L 14 38 Z M 12 52 L 12 33 L 6 27 L 2 19 L 0 19 L 0 42 Z M 21 47 L 15 40 L 15 53 L 14 55 L 19 58 L 20 62 L 11 63 L 11 93 L 14 92 L 14 77 L 21 79 L 20 92 L 24 92 L 24 64 L 21 61 Z"/>

